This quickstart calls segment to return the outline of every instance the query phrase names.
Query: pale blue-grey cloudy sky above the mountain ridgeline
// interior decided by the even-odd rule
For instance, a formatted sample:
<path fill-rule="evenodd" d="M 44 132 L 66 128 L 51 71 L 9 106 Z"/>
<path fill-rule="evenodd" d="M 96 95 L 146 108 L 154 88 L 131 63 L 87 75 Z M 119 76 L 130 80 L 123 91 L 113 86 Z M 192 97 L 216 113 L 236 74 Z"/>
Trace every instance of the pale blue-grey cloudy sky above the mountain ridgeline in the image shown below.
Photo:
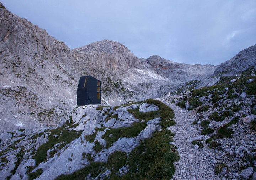
<path fill-rule="evenodd" d="M 255 0 L 0 1 L 70 48 L 109 39 L 141 58 L 218 65 L 256 44 Z"/>

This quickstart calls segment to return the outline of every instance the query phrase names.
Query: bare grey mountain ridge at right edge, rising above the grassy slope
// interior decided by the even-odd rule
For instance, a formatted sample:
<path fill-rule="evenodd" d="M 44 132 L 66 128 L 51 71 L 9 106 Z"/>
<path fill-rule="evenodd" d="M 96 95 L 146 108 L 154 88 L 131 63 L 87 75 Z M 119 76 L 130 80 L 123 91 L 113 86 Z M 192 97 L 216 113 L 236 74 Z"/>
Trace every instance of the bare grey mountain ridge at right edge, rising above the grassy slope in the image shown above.
<path fill-rule="evenodd" d="M 256 72 L 256 45 L 240 51 L 232 59 L 221 63 L 214 71 L 214 75 L 250 75 L 252 72 Z"/>

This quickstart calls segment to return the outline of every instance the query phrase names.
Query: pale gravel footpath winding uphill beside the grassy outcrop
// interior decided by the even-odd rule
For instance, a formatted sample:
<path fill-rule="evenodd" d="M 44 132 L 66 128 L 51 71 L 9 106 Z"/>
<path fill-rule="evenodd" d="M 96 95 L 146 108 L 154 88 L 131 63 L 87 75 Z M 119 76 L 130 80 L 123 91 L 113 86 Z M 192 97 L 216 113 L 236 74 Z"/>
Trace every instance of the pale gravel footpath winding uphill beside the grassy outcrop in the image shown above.
<path fill-rule="evenodd" d="M 215 164 L 213 149 L 208 147 L 195 149 L 191 143 L 191 139 L 198 137 L 200 132 L 196 130 L 196 126 L 191 123 L 197 119 L 197 115 L 193 111 L 187 111 L 176 106 L 176 103 L 171 104 L 171 100 L 166 98 L 158 99 L 170 106 L 175 113 L 175 126 L 169 129 L 175 133 L 174 142 L 180 154 L 180 160 L 176 161 L 174 180 L 204 180 L 204 179 L 223 179 L 214 173 Z M 204 138 L 202 138 L 204 139 Z M 225 178 L 224 178 L 225 179 Z"/>

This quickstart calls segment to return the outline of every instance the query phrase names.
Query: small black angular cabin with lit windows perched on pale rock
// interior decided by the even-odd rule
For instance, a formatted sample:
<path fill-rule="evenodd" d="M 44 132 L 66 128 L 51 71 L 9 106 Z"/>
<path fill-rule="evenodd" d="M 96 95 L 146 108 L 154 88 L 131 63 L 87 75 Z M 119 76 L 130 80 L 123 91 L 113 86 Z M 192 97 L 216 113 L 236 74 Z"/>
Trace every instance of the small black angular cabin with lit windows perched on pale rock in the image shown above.
<path fill-rule="evenodd" d="M 92 76 L 82 76 L 78 83 L 77 105 L 101 104 L 101 82 Z"/>

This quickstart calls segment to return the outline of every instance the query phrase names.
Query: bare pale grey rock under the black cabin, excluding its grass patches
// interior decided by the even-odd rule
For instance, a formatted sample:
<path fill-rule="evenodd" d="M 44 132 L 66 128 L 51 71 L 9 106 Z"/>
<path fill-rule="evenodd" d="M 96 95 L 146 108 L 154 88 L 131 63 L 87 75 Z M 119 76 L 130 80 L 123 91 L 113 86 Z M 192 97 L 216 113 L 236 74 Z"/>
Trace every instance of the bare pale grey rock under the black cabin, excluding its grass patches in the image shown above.
<path fill-rule="evenodd" d="M 122 128 L 132 126 L 132 122 L 143 122 L 143 120 L 136 119 L 133 114 L 130 114 L 127 111 L 128 109 L 134 108 L 134 106 L 137 106 L 144 112 L 150 112 L 146 111 L 148 107 L 149 109 L 151 108 L 151 110 L 158 108 L 157 106 L 149 106 L 149 104 L 145 105 L 145 103 L 138 103 L 136 105 L 126 107 L 121 106 L 114 110 L 113 114 L 117 114 L 118 116 L 117 118 L 114 118 L 115 124 L 109 127 L 114 128 L 116 124 L 119 124 L 117 128 Z M 140 106 L 142 107 L 140 108 Z M 78 130 L 75 133 L 80 133 L 80 135 L 77 138 L 74 138 L 70 143 L 60 141 L 52 147 L 49 147 L 46 156 L 47 161 L 43 161 L 39 165 L 36 164 L 37 160 L 35 161 L 35 159 L 32 159 L 34 158 L 34 150 L 37 150 L 40 145 L 47 141 L 51 141 L 52 138 L 60 138 L 62 136 L 62 132 L 64 134 L 62 128 L 59 128 L 59 130 L 51 129 L 52 131 L 55 130 L 58 132 L 55 134 L 49 133 L 49 130 L 46 129 L 23 133 L 20 136 L 16 135 L 9 141 L 4 141 L 0 146 L 0 151 L 3 151 L 1 158 L 6 158 L 5 161 L 7 162 L 5 163 L 0 161 L 0 179 L 5 179 L 8 176 L 12 179 L 26 179 L 28 178 L 27 170 L 30 167 L 35 167 L 32 172 L 35 172 L 38 169 L 43 169 L 43 173 L 40 176 L 38 175 L 39 177 L 37 177 L 37 179 L 55 179 L 61 174 L 71 174 L 76 170 L 88 166 L 90 161 L 85 158 L 85 154 L 89 153 L 93 158 L 93 161 L 107 162 L 108 156 L 113 152 L 122 151 L 124 153 L 129 153 L 137 147 L 141 141 L 150 138 L 156 130 L 161 129 L 160 126 L 158 126 L 161 118 L 155 118 L 149 121 L 147 126 L 137 136 L 132 138 L 120 137 L 117 141 L 111 144 L 110 147 L 107 147 L 105 146 L 106 140 L 102 138 L 102 135 L 104 135 L 107 130 L 110 130 L 109 128 L 106 128 L 105 125 L 107 122 L 105 122 L 105 120 L 107 116 L 113 115 L 109 113 L 113 108 L 103 107 L 102 110 L 97 110 L 97 107 L 97 105 L 81 106 L 70 112 L 68 114 L 69 121 L 67 124 L 64 124 L 63 128 L 68 130 L 68 132 Z M 127 119 L 124 119 L 125 117 L 127 117 Z M 69 124 L 73 125 L 70 127 Z M 92 135 L 94 133 L 96 135 L 93 142 L 86 140 L 87 135 Z M 16 144 L 17 146 L 10 148 L 9 145 L 16 141 L 19 141 L 19 143 Z M 94 150 L 95 141 L 98 141 L 100 145 L 103 146 L 102 150 L 99 152 Z M 21 151 L 22 156 L 19 157 L 20 159 L 18 160 L 16 154 Z M 53 155 L 51 155 L 51 152 L 54 152 Z M 20 161 L 19 168 L 14 170 L 15 163 L 17 163 L 17 161 Z M 63 164 L 65 166 L 63 166 Z M 128 167 L 123 167 L 119 172 L 120 174 L 125 174 L 128 169 Z M 100 174 L 98 177 L 103 178 L 108 173 L 109 171 Z"/>

